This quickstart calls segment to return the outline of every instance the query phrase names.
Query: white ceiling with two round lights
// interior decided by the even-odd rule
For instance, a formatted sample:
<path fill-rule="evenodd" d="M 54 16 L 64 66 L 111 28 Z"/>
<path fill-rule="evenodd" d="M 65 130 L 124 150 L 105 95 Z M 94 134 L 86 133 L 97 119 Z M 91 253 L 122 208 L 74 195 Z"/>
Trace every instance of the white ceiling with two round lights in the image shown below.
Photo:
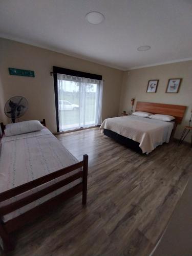
<path fill-rule="evenodd" d="M 91 11 L 104 22 L 89 24 Z M 189 60 L 192 1 L 1 0 L 0 37 L 121 70 Z"/>

